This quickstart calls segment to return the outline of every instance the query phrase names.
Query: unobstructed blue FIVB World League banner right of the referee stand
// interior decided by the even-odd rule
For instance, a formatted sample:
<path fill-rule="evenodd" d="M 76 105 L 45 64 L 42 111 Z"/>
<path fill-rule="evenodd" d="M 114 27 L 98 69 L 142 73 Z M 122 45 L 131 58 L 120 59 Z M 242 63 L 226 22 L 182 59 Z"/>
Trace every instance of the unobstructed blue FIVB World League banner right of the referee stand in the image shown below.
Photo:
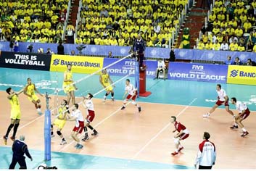
<path fill-rule="evenodd" d="M 227 65 L 170 62 L 168 79 L 226 83 Z"/>

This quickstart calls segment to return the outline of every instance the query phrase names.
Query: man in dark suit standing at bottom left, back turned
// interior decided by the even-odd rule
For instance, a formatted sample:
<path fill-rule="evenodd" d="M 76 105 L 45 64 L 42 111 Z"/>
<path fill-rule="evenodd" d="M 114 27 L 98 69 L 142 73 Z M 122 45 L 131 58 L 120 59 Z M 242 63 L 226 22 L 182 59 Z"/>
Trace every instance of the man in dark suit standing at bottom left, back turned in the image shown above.
<path fill-rule="evenodd" d="M 28 146 L 25 144 L 25 136 L 20 135 L 20 140 L 15 140 L 12 144 L 12 163 L 9 165 L 9 170 L 15 169 L 15 165 L 17 163 L 20 164 L 20 169 L 27 169 L 27 164 L 25 162 L 24 153 L 31 161 L 33 161 L 32 157 L 28 152 Z"/>

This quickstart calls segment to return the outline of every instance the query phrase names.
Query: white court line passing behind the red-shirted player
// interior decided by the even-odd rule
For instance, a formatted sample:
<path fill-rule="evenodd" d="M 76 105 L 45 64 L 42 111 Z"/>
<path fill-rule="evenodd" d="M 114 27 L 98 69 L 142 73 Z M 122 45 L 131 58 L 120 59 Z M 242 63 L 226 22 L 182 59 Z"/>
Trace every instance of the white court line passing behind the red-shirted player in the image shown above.
<path fill-rule="evenodd" d="M 194 101 L 196 101 L 196 100 L 197 100 L 197 98 L 194 98 L 193 101 L 191 101 L 191 102 L 189 103 L 189 105 L 187 105 L 183 110 L 181 110 L 181 112 L 179 112 L 176 117 L 179 117 L 181 114 L 183 114 L 183 112 L 185 112 L 186 109 L 188 109 L 189 107 L 191 107 L 191 104 L 193 104 Z M 157 138 L 157 136 L 159 136 L 159 135 L 160 135 L 166 128 L 168 128 L 169 126 L 170 126 L 170 122 L 168 122 L 168 124 L 165 125 L 165 127 L 162 128 L 162 130 L 160 130 L 156 135 L 154 135 L 154 136 L 149 140 L 149 142 L 147 142 L 131 159 L 135 159 L 136 157 L 138 157 L 139 154 L 141 154 L 141 151 L 144 151 L 144 149 L 146 149 L 146 147 L 149 146 L 149 144 L 152 143 L 152 141 L 154 141 L 154 139 Z"/>

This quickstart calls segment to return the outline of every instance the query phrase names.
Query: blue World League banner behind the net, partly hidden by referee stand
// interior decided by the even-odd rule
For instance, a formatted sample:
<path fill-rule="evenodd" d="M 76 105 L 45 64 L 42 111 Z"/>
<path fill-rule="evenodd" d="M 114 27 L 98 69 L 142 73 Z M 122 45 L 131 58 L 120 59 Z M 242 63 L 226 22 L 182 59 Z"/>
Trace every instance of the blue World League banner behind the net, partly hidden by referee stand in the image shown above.
<path fill-rule="evenodd" d="M 131 76 L 134 76 L 136 62 L 131 59 L 123 59 L 123 60 L 120 60 L 120 62 L 117 62 L 118 60 L 120 59 L 104 58 L 103 67 L 107 67 L 108 65 L 112 64 L 112 66 L 107 67 L 107 72 L 110 75 L 125 76 L 128 74 L 131 74 Z M 157 68 L 157 62 L 151 61 L 151 60 L 146 60 L 145 62 L 146 62 L 146 77 L 154 78 L 155 70 Z"/>

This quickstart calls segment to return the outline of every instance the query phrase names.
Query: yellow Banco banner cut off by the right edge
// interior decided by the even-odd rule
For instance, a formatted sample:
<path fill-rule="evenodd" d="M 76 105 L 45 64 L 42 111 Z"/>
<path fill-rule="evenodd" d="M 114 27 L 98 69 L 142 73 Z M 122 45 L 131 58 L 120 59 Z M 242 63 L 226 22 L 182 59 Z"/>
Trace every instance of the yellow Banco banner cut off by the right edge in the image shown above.
<path fill-rule="evenodd" d="M 229 65 L 228 83 L 256 85 L 256 67 Z"/>

